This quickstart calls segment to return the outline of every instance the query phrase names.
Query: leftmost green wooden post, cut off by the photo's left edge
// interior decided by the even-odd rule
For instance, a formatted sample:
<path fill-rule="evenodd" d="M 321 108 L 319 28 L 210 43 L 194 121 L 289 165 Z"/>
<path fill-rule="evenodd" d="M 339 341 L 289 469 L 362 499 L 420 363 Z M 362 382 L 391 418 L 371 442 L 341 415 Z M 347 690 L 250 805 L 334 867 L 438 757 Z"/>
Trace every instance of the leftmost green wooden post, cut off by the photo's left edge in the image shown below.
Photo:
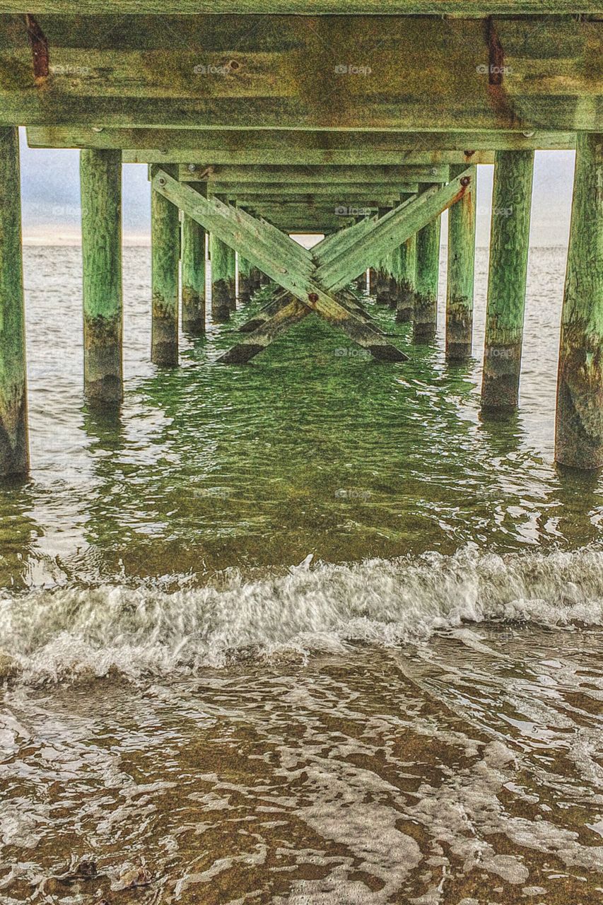
<path fill-rule="evenodd" d="M 29 471 L 19 133 L 0 129 L 0 477 Z"/>

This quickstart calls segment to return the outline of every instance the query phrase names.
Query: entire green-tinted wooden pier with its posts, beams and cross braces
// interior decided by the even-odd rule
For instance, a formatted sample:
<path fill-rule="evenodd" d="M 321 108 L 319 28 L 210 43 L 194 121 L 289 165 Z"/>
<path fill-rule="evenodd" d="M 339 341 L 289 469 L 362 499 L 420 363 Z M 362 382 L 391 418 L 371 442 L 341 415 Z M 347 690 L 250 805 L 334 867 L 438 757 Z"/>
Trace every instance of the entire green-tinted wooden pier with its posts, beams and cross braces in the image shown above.
<path fill-rule="evenodd" d="M 239 304 L 266 278 L 273 293 L 224 364 L 311 314 L 404 363 L 350 287 L 369 270 L 392 320 L 433 342 L 446 210 L 446 357 L 472 356 L 476 176 L 493 164 L 482 402 L 514 410 L 534 151 L 576 148 L 555 457 L 603 466 L 600 2 L 3 0 L 2 476 L 29 468 L 19 126 L 32 147 L 81 149 L 90 405 L 123 394 L 122 163 L 148 165 L 160 367 L 177 367 L 180 326 L 200 336 L 207 317 L 230 319 L 235 254 Z M 307 250 L 290 233 L 325 238 Z"/>

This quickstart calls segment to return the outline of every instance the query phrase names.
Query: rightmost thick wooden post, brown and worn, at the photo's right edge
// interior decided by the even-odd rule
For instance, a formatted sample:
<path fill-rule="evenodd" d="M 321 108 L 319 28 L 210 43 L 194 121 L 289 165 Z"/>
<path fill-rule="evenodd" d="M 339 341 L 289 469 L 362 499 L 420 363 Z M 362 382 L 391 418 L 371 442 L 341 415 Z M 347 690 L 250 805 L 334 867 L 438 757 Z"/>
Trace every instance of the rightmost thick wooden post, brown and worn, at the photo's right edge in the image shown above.
<path fill-rule="evenodd" d="M 603 465 L 603 133 L 579 132 L 561 312 L 555 461 Z"/>

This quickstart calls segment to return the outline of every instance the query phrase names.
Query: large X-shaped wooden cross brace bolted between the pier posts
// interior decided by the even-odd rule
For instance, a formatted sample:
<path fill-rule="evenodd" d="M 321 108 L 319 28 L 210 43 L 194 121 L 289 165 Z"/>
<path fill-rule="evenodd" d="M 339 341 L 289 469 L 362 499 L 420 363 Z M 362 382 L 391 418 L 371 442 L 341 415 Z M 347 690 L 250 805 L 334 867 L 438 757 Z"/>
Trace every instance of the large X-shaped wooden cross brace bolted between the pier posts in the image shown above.
<path fill-rule="evenodd" d="M 346 305 L 339 297 L 372 262 L 379 261 L 405 243 L 418 230 L 455 204 L 471 181 L 468 169 L 445 186 L 432 186 L 414 195 L 378 219 L 366 220 L 335 233 L 312 252 L 241 208 L 227 205 L 215 196 L 206 198 L 194 188 L 180 183 L 165 170 L 156 169 L 153 190 L 164 195 L 210 233 L 235 248 L 244 258 L 282 287 L 282 297 L 274 300 L 267 319 L 220 359 L 243 363 L 262 352 L 283 330 L 309 314 L 318 314 L 374 357 L 387 361 L 407 361 L 407 356 L 383 333 L 370 327 L 364 312 Z"/>

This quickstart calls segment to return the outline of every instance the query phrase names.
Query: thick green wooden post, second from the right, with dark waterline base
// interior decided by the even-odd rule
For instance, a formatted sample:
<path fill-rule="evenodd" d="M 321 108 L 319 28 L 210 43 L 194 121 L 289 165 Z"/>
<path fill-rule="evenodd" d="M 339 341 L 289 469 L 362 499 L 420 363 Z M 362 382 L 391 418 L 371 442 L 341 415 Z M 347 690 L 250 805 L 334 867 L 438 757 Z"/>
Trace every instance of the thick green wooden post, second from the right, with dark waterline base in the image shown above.
<path fill-rule="evenodd" d="M 533 151 L 496 152 L 483 351 L 484 410 L 513 409 L 519 401 L 533 169 Z"/>

